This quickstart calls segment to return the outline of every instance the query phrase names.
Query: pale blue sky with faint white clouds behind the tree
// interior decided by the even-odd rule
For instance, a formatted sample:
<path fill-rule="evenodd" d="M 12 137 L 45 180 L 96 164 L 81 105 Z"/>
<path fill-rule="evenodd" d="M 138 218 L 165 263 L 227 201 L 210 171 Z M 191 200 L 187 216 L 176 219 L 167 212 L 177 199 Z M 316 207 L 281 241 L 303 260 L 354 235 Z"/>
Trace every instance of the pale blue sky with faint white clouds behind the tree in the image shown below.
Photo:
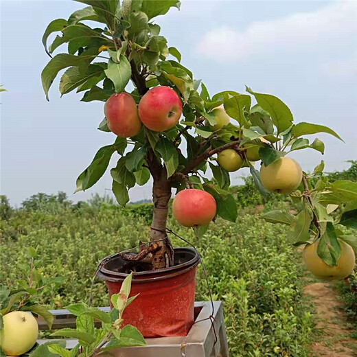
<path fill-rule="evenodd" d="M 109 170 L 73 194 L 97 149 L 115 140 L 97 130 L 103 103 L 80 102 L 73 92 L 60 98 L 59 77 L 47 102 L 41 85 L 47 24 L 82 7 L 70 0 L 0 0 L 0 84 L 8 90 L 0 94 L 0 188 L 12 205 L 38 192 L 63 191 L 73 201 L 111 194 Z M 284 100 L 295 122 L 330 126 L 343 138 L 317 135 L 325 141 L 323 156 L 292 153 L 303 170 L 321 159 L 326 171 L 343 170 L 345 161 L 357 159 L 357 1 L 183 0 L 180 11 L 172 8 L 155 22 L 211 95 L 243 93 L 248 85 Z M 246 174 L 234 172 L 231 181 Z M 143 198 L 151 198 L 150 183 L 130 189 L 131 200 Z"/>

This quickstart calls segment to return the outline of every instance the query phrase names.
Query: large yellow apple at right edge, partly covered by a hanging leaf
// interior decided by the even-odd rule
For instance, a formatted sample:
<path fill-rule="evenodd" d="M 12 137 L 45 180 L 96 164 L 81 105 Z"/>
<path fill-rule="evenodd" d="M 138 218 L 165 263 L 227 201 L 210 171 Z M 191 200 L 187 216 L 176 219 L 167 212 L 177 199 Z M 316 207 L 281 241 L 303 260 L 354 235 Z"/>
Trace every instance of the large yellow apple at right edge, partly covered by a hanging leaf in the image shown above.
<path fill-rule="evenodd" d="M 303 262 L 305 263 L 306 269 L 323 280 L 339 280 L 348 277 L 354 270 L 356 262 L 354 250 L 352 246 L 343 242 L 343 240 L 338 240 L 338 242 L 341 246 L 341 255 L 338 258 L 336 266 L 326 264 L 321 257 L 317 255 L 319 240 L 316 240 L 316 242 L 312 244 L 307 244 L 303 249 Z"/>

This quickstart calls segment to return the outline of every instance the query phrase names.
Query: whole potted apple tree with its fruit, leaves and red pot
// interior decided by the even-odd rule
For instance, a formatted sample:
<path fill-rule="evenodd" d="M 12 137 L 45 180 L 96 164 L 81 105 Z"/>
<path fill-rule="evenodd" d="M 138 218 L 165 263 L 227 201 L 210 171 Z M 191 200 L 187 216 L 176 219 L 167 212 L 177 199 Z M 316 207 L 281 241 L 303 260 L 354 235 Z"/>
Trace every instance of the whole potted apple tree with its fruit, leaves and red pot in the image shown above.
<path fill-rule="evenodd" d="M 351 244 L 356 239 L 335 224 L 356 225 L 357 184 L 330 184 L 322 174 L 323 161 L 306 174 L 286 156 L 305 148 L 323 153 L 321 140 L 310 143 L 304 135 L 323 132 L 341 138 L 323 125 L 293 124 L 288 106 L 273 95 L 248 87 L 245 94 L 209 95 L 154 23 L 156 16 L 179 8 L 178 0 L 78 1 L 89 6 L 68 20 L 52 21 L 43 35 L 49 56 L 67 44 L 67 51 L 51 58 L 43 69 L 43 89 L 48 99 L 49 87 L 66 69 L 60 93 L 76 89 L 84 92 L 82 102 L 105 102 L 105 118 L 98 129 L 108 132 L 114 142 L 97 151 L 78 176 L 76 191 L 92 187 L 113 154 L 118 156 L 111 176 L 119 205 L 128 203 L 131 187 L 153 179 L 150 242 L 140 244 L 137 253 L 106 258 L 99 273 L 112 295 L 135 271 L 132 294 L 140 295 L 128 306 L 125 321 L 143 336 L 187 334 L 194 316 L 198 256 L 192 249 L 173 249 L 168 238 L 172 189 L 174 218 L 200 235 L 216 216 L 232 222 L 237 218 L 235 199 L 228 191 L 229 172 L 244 166 L 263 195 L 290 194 L 302 203 L 297 216 L 270 211 L 264 218 L 289 224 L 292 244 L 307 244 L 303 254 L 308 268 L 328 279 L 349 275 L 354 267 Z M 61 33 L 47 48 L 53 32 Z M 257 161 L 260 170 L 254 167 Z M 205 175 L 208 168 L 211 179 Z"/>

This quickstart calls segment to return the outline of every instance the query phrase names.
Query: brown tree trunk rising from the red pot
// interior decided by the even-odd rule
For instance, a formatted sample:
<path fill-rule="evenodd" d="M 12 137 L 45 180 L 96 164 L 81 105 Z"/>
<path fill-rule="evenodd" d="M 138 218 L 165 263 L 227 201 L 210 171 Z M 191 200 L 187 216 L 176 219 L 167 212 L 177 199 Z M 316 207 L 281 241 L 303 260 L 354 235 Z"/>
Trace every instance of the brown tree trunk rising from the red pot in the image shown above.
<path fill-rule="evenodd" d="M 171 198 L 171 185 L 166 178 L 165 170 L 162 170 L 159 176 L 154 177 L 152 198 L 154 214 L 152 215 L 150 241 L 160 240 L 156 244 L 161 247 L 158 251 L 152 253 L 152 269 L 157 270 L 174 265 L 174 249 L 165 232 L 168 220 L 168 204 Z"/>

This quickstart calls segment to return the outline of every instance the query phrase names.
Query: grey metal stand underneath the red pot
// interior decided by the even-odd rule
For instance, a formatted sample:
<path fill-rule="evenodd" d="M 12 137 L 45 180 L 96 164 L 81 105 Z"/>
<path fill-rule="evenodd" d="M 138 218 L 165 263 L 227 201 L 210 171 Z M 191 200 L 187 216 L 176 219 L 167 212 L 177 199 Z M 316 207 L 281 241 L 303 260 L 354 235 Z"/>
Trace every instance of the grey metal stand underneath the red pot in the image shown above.
<path fill-rule="evenodd" d="M 101 308 L 101 310 L 108 311 L 109 308 Z M 51 310 L 51 313 L 55 316 L 52 327 L 54 330 L 76 326 L 76 318 L 68 310 Z M 221 301 L 214 301 L 214 329 L 211 321 L 207 319 L 210 315 L 211 301 L 198 301 L 195 303 L 195 321 L 199 322 L 192 326 L 187 336 L 146 338 L 148 343 L 146 347 L 113 349 L 111 354 L 115 357 L 229 357 Z M 38 319 L 38 325 L 40 330 L 47 330 L 47 325 L 42 319 Z M 42 344 L 49 341 L 37 342 Z M 73 339 L 68 339 L 66 342 L 68 349 L 77 344 Z"/>

